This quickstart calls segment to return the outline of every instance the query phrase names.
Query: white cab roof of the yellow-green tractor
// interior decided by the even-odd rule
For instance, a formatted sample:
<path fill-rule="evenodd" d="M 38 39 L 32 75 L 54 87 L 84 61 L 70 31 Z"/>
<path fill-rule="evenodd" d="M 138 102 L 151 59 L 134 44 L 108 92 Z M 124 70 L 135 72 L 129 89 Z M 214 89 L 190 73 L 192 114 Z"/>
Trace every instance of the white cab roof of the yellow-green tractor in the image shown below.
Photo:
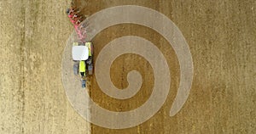
<path fill-rule="evenodd" d="M 73 60 L 87 60 L 89 57 L 89 50 L 86 46 L 73 46 L 72 58 Z"/>

